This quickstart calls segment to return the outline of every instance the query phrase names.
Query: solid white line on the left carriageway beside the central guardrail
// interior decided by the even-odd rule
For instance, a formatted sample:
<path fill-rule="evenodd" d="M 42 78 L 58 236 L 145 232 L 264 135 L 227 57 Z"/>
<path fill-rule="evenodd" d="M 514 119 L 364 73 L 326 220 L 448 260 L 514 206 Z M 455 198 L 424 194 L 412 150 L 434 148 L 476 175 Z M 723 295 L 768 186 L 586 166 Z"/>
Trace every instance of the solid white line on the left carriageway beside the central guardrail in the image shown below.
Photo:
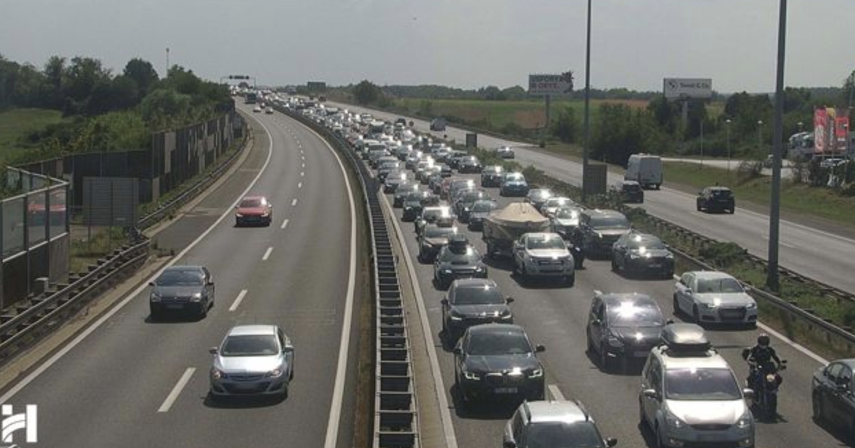
<path fill-rule="evenodd" d="M 356 289 L 357 281 L 357 209 L 353 203 L 353 189 L 351 188 L 351 180 L 347 176 L 345 164 L 341 162 L 339 153 L 333 150 L 333 147 L 327 143 L 315 130 L 310 127 L 305 127 L 310 133 L 315 134 L 321 143 L 327 146 L 327 149 L 335 160 L 339 162 L 341 174 L 345 176 L 345 186 L 347 186 L 347 200 L 351 206 L 351 272 L 350 279 L 347 281 L 347 302 L 345 303 L 345 319 L 341 325 L 341 343 L 339 345 L 339 363 L 335 371 L 335 386 L 333 386 L 333 402 L 330 404 L 329 421 L 327 421 L 327 437 L 324 440 L 324 448 L 336 448 L 339 442 L 339 426 L 341 421 L 341 409 L 344 406 L 345 398 L 345 380 L 347 379 L 347 357 L 350 351 L 351 344 L 351 321 L 353 315 L 353 293 Z"/>

